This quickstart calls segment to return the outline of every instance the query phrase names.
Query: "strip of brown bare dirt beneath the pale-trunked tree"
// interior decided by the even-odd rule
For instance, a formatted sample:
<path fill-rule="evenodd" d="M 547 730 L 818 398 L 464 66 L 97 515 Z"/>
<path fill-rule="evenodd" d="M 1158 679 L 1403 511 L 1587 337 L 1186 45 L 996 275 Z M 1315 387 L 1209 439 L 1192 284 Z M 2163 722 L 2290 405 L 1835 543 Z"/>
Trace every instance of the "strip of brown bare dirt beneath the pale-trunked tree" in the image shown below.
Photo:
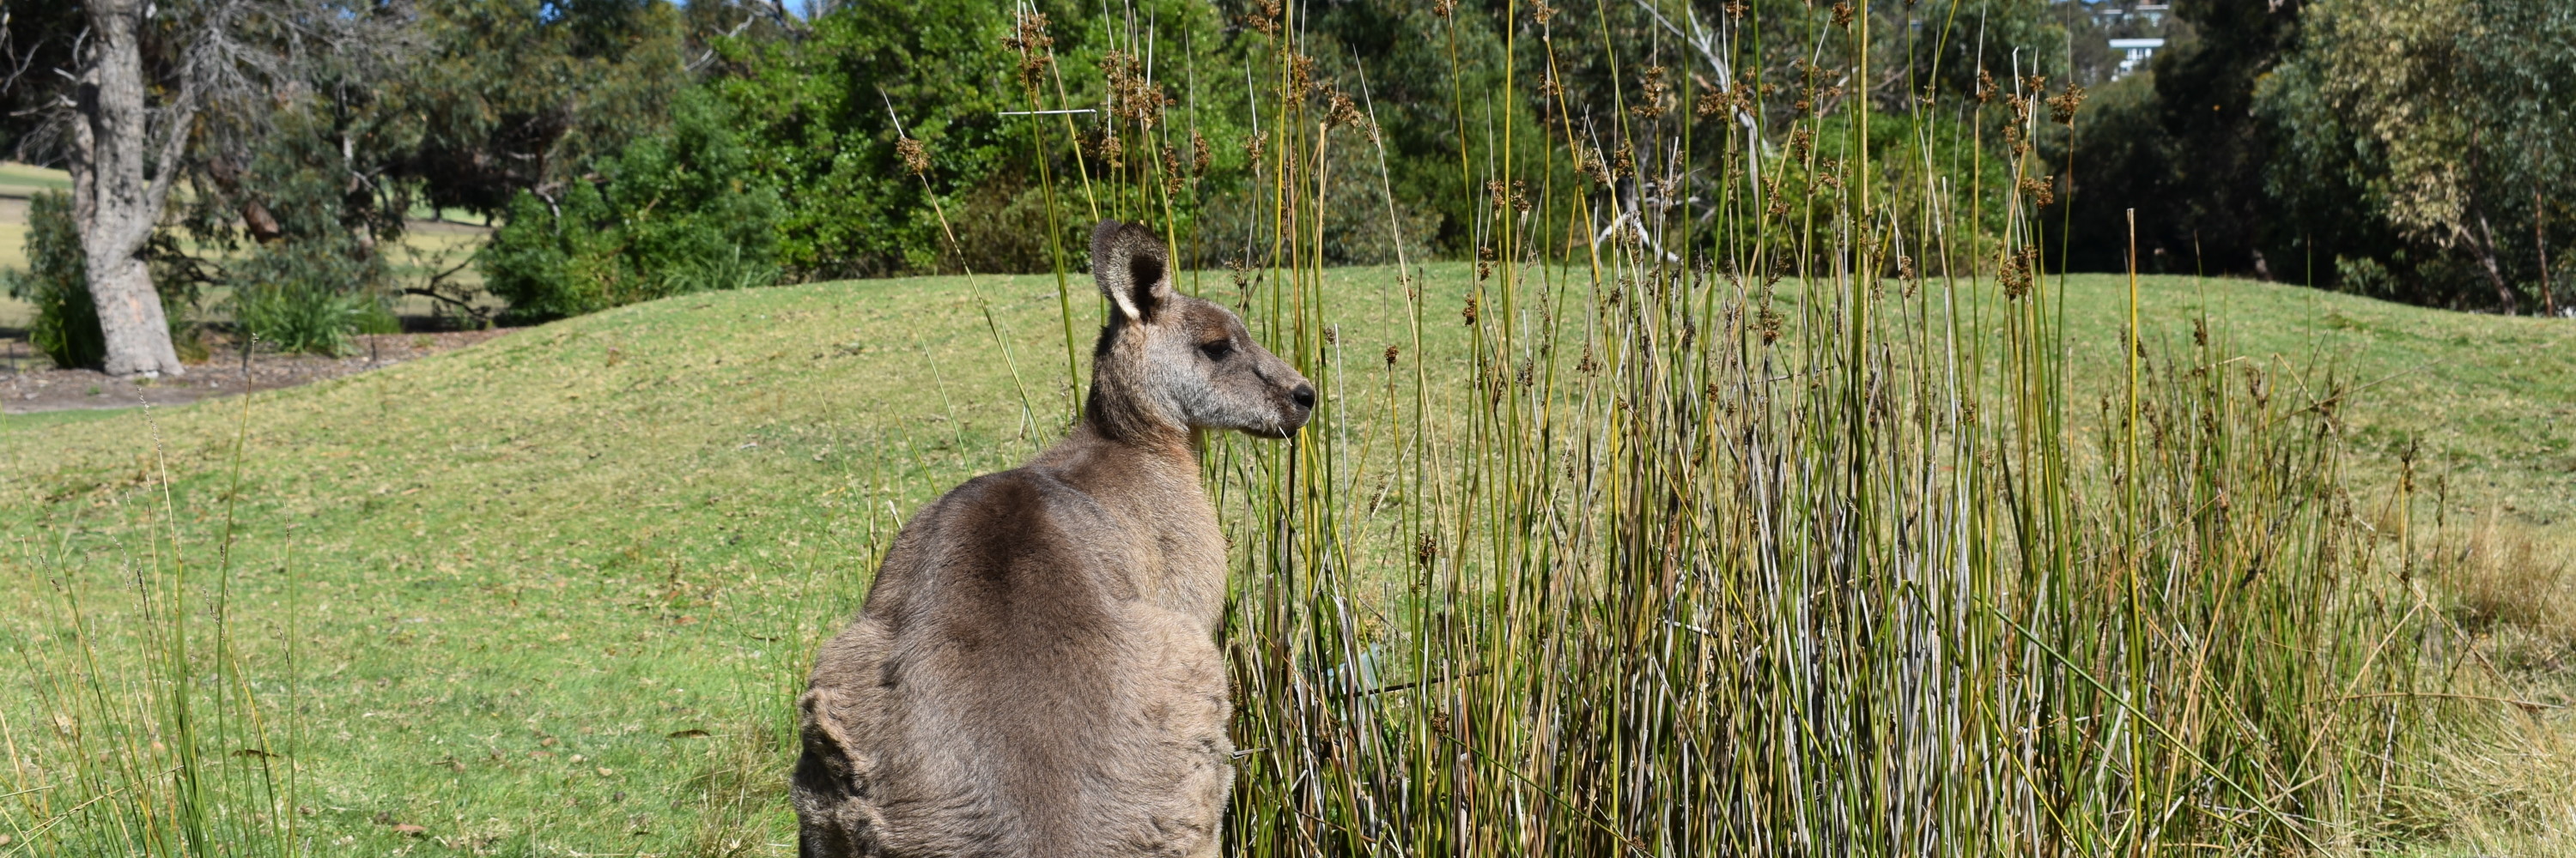
<path fill-rule="evenodd" d="M 111 379 L 90 368 L 28 368 L 0 374 L 0 412 L 59 412 L 88 407 L 183 405 L 196 399 L 232 397 L 252 389 L 278 389 L 322 379 L 353 376 L 379 366 L 417 361 L 446 350 L 459 350 L 510 330 L 456 330 L 456 332 L 402 332 L 361 335 L 348 358 L 252 353 L 247 366 L 240 353 L 214 345 L 216 358 L 188 366 L 180 379 Z M 18 348 L 26 348 L 18 343 Z"/>

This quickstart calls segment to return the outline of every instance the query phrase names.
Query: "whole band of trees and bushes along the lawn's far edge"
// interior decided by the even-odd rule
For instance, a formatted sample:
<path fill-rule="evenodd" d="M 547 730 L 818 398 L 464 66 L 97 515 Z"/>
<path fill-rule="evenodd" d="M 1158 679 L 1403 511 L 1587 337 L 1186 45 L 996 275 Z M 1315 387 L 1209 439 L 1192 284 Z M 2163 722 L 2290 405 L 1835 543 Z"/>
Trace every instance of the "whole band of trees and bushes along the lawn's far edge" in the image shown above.
<path fill-rule="evenodd" d="M 173 8 L 260 3 L 314 5 Z M 1777 131 L 1808 111 L 1868 106 L 1873 139 L 1929 124 L 1942 162 L 1873 162 L 1891 188 L 1919 186 L 1901 170 L 1937 170 L 2002 198 L 2014 188 L 1991 170 L 1996 155 L 2035 144 L 2056 165 L 2058 234 L 2043 242 L 2043 268 L 2123 268 L 2136 209 L 2146 271 L 2555 307 L 2550 283 L 2571 268 L 2548 240 L 2568 224 L 2576 175 L 2563 144 L 2576 131 L 2566 5 L 2177 0 L 2159 28 L 2166 49 L 2117 80 L 2107 39 L 2138 26 L 2102 26 L 2094 10 L 2050 0 L 366 3 L 343 8 L 368 23 L 361 46 L 307 49 L 322 59 L 278 67 L 260 80 L 265 98 L 206 108 L 188 134 L 183 193 L 147 253 L 165 304 L 180 307 L 173 317 L 201 286 L 234 286 L 237 301 L 330 304 L 301 314 L 322 327 L 384 325 L 350 296 L 381 304 L 402 291 L 471 317 L 489 307 L 482 289 L 513 317 L 546 319 L 773 281 L 1079 268 L 1079 234 L 1097 216 L 1162 224 L 1198 265 L 1244 268 L 1267 263 L 1267 211 L 1285 193 L 1265 160 L 1301 147 L 1329 165 L 1321 188 L 1298 188 L 1334 211 L 1306 242 L 1327 263 L 1463 260 L 1484 247 L 1479 206 L 1672 157 L 1615 144 L 1566 152 L 1551 139 L 1625 139 L 1615 131 L 1631 111 L 1700 93 L 1726 103 L 1674 111 L 1690 139 L 1749 134 L 1790 152 L 1780 183 L 1834 173 L 1842 142 Z M 1844 41 L 1819 39 L 1860 13 L 1878 21 L 1868 80 L 1852 80 Z M 1749 39 L 1708 36 L 1734 15 L 1757 21 L 1739 31 Z M 75 67 L 80 33 L 72 5 L 36 5 L 13 15 L 5 46 L 26 67 Z M 188 31 L 155 33 L 147 64 L 175 67 Z M 1309 131 L 1255 134 L 1275 129 L 1278 106 L 1249 80 L 1280 64 L 1334 111 Z M 1553 88 L 1504 85 L 1551 75 Z M 62 157 L 64 134 L 44 108 L 67 93 L 57 77 L 18 75 L 5 90 L 0 134 L 18 157 Z M 2032 142 L 2007 139 L 2004 111 L 1984 106 L 2025 95 L 2076 113 Z M 1497 186 L 1504 162 L 1551 188 Z M 1710 196 L 1654 193 L 1664 198 L 1592 216 L 1540 206 L 1530 234 L 1571 253 L 1610 211 L 1677 211 Z M 500 229 L 471 260 L 394 258 L 407 214 L 433 209 Z M 461 286 L 464 271 L 482 283 Z"/>

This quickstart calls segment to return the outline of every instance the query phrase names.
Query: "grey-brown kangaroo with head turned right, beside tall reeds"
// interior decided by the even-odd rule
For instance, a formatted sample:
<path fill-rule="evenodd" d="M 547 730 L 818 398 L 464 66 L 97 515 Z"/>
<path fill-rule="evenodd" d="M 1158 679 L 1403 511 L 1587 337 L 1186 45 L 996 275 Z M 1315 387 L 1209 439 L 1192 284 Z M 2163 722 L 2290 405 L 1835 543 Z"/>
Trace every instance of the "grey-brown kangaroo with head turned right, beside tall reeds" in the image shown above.
<path fill-rule="evenodd" d="M 1082 423 L 922 508 L 796 701 L 799 855 L 1216 855 L 1234 786 L 1226 544 L 1198 430 L 1288 438 L 1314 384 L 1092 232 Z"/>

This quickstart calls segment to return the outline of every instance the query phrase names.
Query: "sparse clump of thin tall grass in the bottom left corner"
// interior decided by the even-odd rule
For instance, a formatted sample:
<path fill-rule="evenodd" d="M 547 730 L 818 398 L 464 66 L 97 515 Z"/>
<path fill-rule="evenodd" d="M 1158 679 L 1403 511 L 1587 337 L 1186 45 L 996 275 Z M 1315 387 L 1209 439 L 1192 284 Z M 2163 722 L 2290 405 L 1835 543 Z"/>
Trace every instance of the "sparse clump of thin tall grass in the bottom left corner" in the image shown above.
<path fill-rule="evenodd" d="M 0 794 L 15 804 L 0 855 L 309 853 L 294 758 L 301 590 L 291 562 L 260 582 L 242 582 L 232 562 L 247 407 L 242 397 L 219 531 L 185 533 L 155 448 L 147 479 L 157 497 L 108 508 L 103 515 L 131 520 L 90 531 L 142 533 L 147 544 L 82 551 L 75 541 L 85 528 L 64 528 L 52 544 L 0 557 L 39 580 L 23 593 L 49 595 L 26 605 L 26 636 L 10 647 L 28 696 L 0 714 Z M 286 605 L 286 629 L 265 629 L 283 647 L 260 647 L 276 662 L 245 654 L 242 593 Z"/>

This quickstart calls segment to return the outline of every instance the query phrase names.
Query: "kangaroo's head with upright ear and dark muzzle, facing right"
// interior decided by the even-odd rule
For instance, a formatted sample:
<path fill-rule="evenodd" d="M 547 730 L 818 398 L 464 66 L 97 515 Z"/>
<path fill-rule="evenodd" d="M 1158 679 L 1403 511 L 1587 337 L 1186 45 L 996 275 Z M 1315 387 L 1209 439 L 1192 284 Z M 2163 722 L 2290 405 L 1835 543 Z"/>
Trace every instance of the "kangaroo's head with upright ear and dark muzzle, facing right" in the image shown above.
<path fill-rule="evenodd" d="M 1244 430 L 1296 435 L 1314 384 L 1244 330 L 1234 312 L 1172 291 L 1170 255 L 1144 224 L 1092 229 L 1092 278 L 1110 317 L 1092 348 L 1084 417 L 1113 438 Z"/>

